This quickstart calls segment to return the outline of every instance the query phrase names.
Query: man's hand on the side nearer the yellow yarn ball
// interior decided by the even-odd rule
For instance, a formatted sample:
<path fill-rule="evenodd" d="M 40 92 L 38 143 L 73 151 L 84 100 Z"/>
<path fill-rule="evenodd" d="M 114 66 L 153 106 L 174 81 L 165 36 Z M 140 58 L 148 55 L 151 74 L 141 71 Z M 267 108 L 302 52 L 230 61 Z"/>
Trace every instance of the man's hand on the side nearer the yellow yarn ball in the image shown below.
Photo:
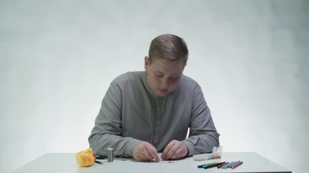
<path fill-rule="evenodd" d="M 133 151 L 133 157 L 138 161 L 149 161 L 153 158 L 157 162 L 160 161 L 156 148 L 145 141 L 141 141 L 136 145 Z"/>

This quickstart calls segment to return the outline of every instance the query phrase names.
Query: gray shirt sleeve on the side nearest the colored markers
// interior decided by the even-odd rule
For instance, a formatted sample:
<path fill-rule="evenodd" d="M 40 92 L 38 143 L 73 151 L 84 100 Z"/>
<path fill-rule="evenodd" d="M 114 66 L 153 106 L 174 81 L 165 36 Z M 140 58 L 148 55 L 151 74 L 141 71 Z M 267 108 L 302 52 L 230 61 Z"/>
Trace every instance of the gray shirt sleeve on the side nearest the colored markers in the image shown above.
<path fill-rule="evenodd" d="M 189 137 L 181 142 L 188 147 L 188 156 L 191 156 L 212 152 L 213 147 L 219 146 L 219 136 L 220 134 L 215 129 L 201 87 L 196 85 L 193 95 Z"/>

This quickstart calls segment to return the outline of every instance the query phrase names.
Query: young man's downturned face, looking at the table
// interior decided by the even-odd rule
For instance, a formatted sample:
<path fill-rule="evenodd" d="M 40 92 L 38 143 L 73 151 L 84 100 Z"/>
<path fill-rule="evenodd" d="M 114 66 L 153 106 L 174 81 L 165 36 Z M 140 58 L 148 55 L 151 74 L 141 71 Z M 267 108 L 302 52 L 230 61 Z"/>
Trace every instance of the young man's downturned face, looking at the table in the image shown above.
<path fill-rule="evenodd" d="M 182 59 L 178 61 L 165 61 L 154 58 L 151 62 L 145 57 L 145 70 L 147 83 L 154 94 L 165 97 L 173 92 L 179 83 L 184 66 Z"/>

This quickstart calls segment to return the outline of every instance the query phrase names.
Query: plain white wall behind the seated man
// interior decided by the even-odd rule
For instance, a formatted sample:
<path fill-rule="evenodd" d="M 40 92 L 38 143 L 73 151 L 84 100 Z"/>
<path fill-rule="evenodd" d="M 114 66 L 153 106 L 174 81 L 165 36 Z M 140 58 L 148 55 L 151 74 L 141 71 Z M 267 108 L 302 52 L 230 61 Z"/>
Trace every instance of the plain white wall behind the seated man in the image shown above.
<path fill-rule="evenodd" d="M 1 1 L 0 172 L 86 149 L 109 83 L 163 33 L 187 40 L 225 152 L 304 172 L 308 18 L 308 1 Z"/>

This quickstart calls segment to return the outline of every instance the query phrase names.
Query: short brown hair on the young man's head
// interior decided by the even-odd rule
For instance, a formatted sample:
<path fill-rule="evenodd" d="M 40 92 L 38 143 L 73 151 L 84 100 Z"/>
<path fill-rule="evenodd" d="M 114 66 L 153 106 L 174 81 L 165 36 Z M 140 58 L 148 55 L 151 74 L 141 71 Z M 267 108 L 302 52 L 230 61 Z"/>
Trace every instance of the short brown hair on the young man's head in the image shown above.
<path fill-rule="evenodd" d="M 183 63 L 186 64 L 188 56 L 186 42 L 173 34 L 163 34 L 152 39 L 148 52 L 150 64 L 154 58 L 162 58 L 167 61 L 183 59 Z"/>

